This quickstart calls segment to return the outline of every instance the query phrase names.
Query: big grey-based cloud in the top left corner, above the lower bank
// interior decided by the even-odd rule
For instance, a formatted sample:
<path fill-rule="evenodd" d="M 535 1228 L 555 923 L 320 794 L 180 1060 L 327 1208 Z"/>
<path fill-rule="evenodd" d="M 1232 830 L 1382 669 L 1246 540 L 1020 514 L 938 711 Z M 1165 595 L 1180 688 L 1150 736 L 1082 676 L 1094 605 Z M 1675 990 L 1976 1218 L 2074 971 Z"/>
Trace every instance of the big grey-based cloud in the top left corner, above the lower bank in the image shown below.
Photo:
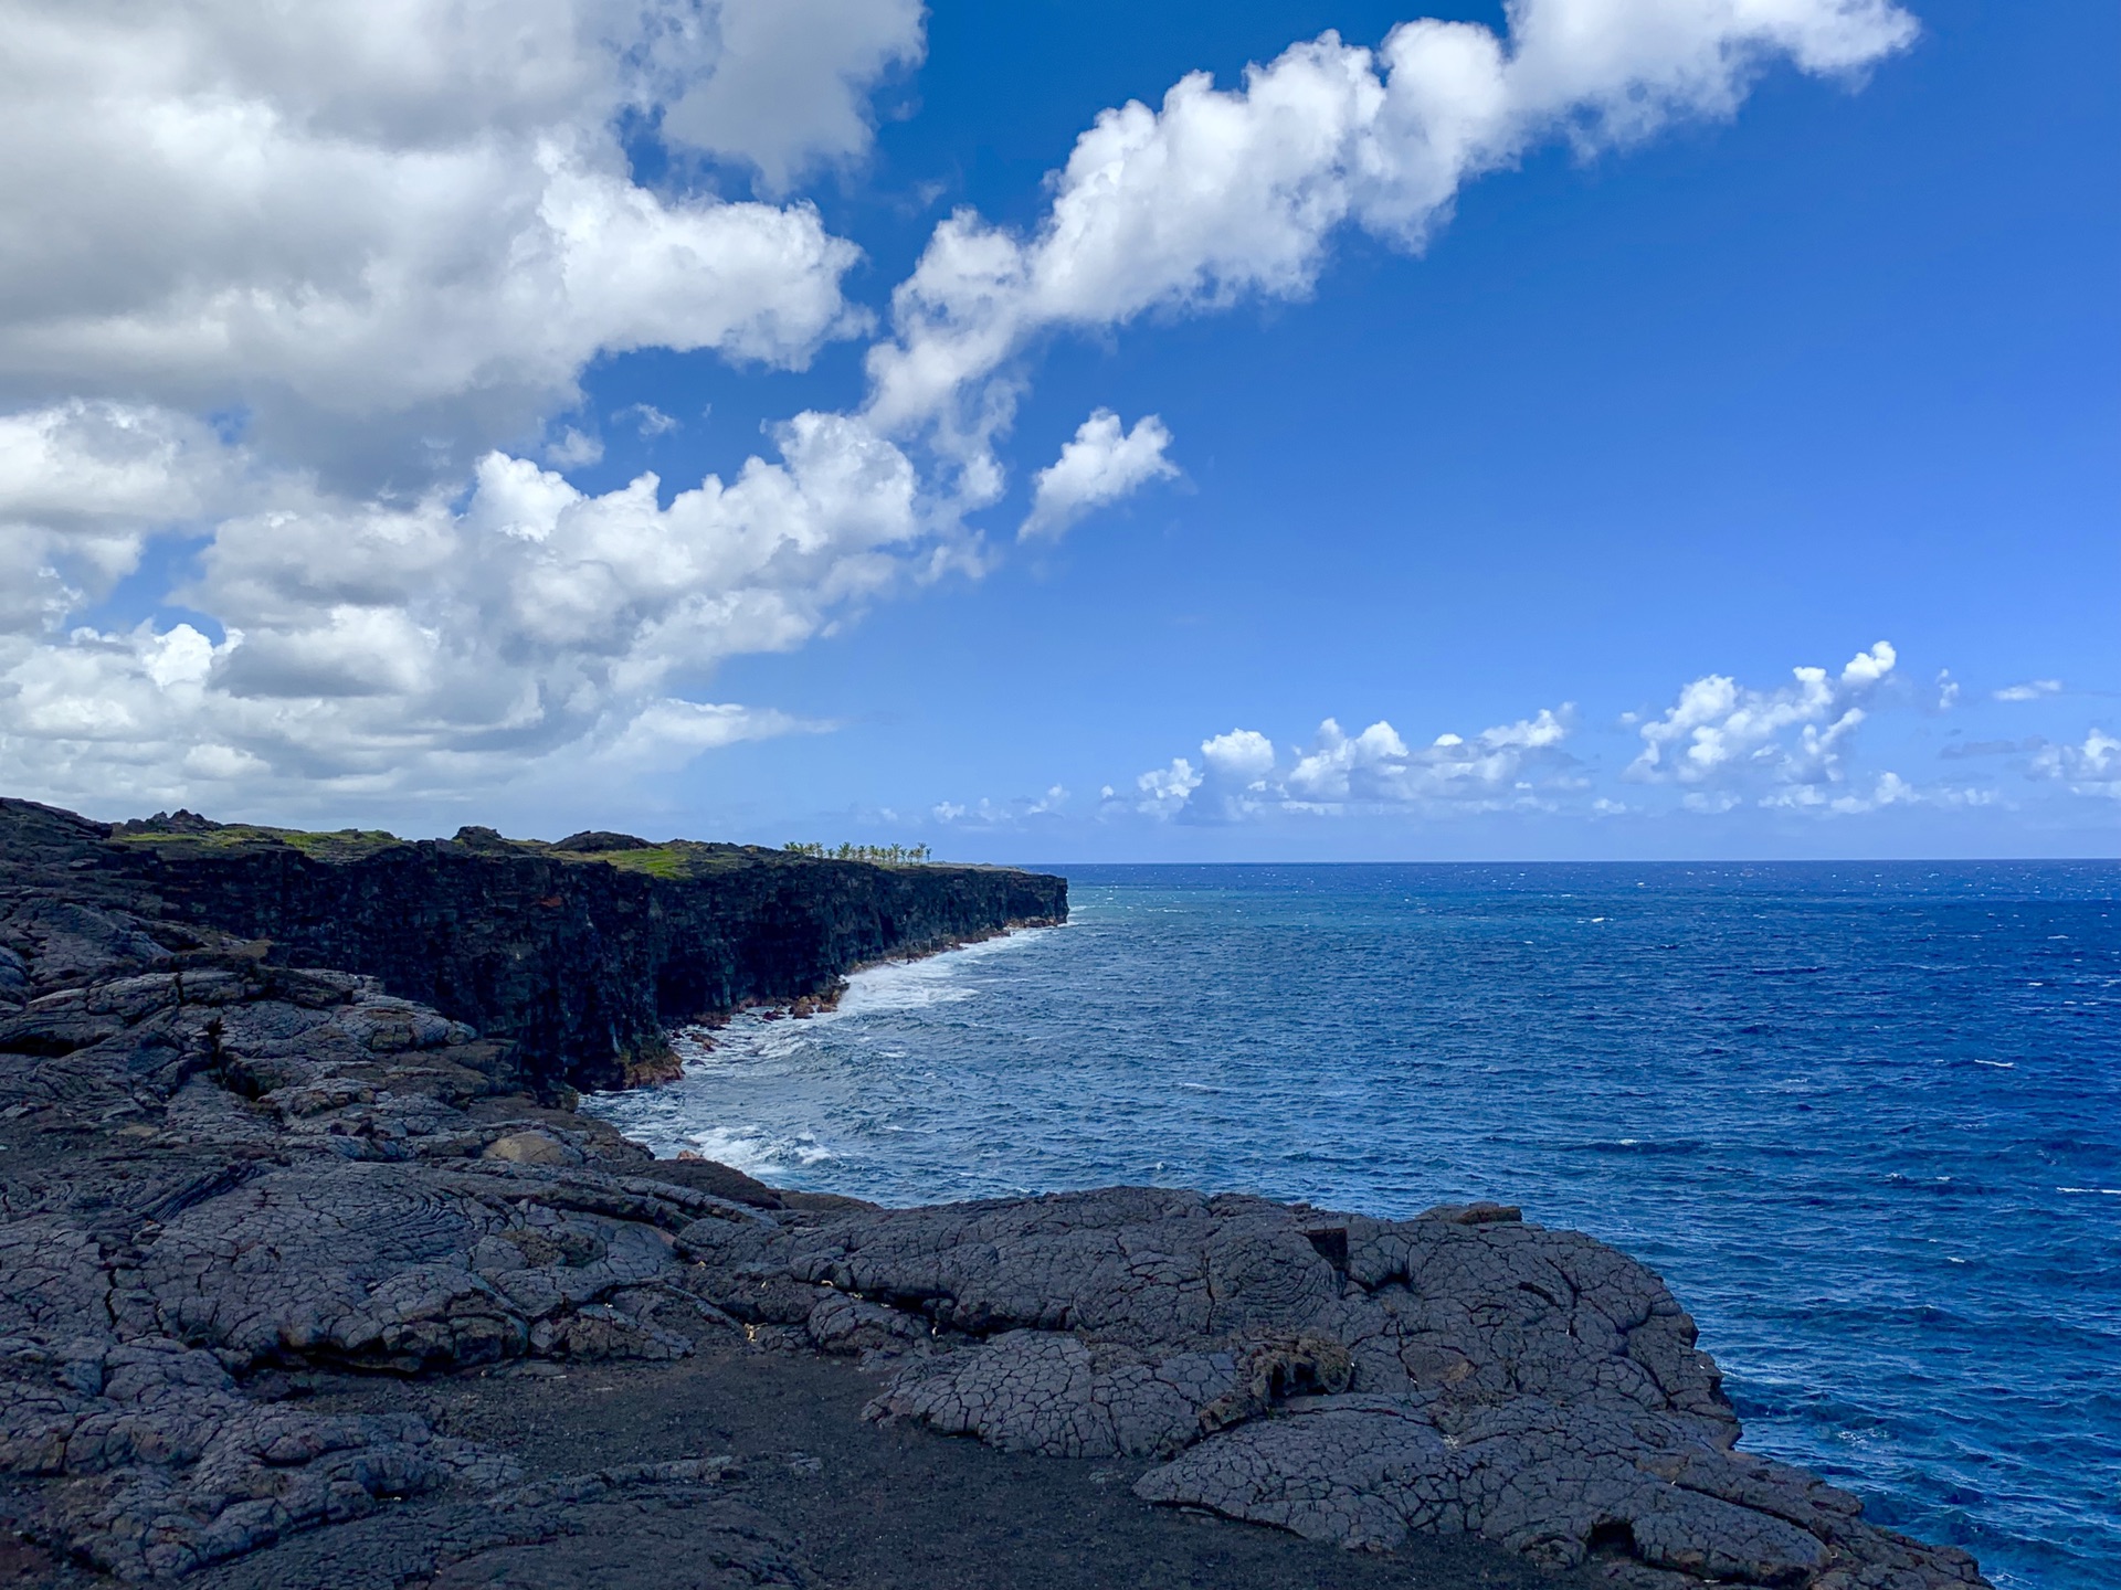
<path fill-rule="evenodd" d="M 598 352 L 804 365 L 863 324 L 853 244 L 649 191 L 615 131 L 715 98 L 721 36 L 787 2 L 0 0 L 0 401 L 250 407 L 401 481 L 407 443 L 520 435 Z M 812 49 L 834 98 L 867 81 Z M 781 159 L 789 114 L 730 151 Z"/>

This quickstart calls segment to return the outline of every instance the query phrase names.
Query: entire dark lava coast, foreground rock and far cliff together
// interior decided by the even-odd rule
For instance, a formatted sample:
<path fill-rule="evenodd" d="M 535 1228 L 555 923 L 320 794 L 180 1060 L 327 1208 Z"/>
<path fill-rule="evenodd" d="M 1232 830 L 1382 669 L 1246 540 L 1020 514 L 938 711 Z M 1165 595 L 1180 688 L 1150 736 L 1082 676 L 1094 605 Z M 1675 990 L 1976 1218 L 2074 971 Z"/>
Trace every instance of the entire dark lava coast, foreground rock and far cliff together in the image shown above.
<path fill-rule="evenodd" d="M 568 1109 L 1065 909 L 0 801 L 0 1582 L 1983 1584 L 1739 1450 L 1665 1285 L 1517 1208 L 874 1208 Z"/>

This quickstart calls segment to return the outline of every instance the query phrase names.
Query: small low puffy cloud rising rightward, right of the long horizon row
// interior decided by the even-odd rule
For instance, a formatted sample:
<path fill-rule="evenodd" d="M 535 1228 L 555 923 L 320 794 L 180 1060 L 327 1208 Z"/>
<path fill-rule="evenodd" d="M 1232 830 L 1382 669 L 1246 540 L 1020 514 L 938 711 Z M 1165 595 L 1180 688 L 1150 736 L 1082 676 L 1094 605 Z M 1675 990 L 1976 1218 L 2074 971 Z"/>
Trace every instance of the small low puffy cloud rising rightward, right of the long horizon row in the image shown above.
<path fill-rule="evenodd" d="M 1627 776 L 1644 782 L 1822 784 L 1843 776 L 1850 738 L 1864 706 L 1892 674 L 1896 655 L 1879 640 L 1856 653 L 1839 678 L 1792 668 L 1792 685 L 1758 691 L 1729 674 L 1705 674 L 1642 725 L 1642 753 Z"/>

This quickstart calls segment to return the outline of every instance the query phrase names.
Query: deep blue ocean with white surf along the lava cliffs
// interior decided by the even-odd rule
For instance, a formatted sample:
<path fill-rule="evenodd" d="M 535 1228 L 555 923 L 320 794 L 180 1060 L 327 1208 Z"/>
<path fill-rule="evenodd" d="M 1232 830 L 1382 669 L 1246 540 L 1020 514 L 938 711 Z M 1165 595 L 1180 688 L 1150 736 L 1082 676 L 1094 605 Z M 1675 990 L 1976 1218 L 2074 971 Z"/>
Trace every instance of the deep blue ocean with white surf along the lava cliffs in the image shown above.
<path fill-rule="evenodd" d="M 1067 929 L 592 1107 L 882 1202 L 1517 1202 L 1665 1274 L 1746 1446 L 2121 1586 L 2121 865 L 1065 871 Z"/>

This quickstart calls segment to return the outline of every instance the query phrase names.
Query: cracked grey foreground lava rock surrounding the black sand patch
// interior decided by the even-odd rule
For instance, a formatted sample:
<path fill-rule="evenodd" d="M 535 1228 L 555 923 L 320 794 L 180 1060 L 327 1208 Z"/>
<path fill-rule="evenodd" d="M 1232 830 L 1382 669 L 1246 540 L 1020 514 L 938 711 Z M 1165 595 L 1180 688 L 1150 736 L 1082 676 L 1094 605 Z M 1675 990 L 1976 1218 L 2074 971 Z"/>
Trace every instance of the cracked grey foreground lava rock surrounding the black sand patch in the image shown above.
<path fill-rule="evenodd" d="M 0 1471 L 38 1539 L 121 1579 L 812 1584 L 717 1459 L 528 1480 L 291 1395 L 747 1340 L 859 1357 L 872 1418 L 1152 1459 L 1147 1501 L 1343 1545 L 1478 1535 L 1669 1590 L 1981 1584 L 1739 1452 L 1693 1321 L 1587 1236 L 1162 1189 L 783 1198 L 55 854 L 0 871 Z"/>

